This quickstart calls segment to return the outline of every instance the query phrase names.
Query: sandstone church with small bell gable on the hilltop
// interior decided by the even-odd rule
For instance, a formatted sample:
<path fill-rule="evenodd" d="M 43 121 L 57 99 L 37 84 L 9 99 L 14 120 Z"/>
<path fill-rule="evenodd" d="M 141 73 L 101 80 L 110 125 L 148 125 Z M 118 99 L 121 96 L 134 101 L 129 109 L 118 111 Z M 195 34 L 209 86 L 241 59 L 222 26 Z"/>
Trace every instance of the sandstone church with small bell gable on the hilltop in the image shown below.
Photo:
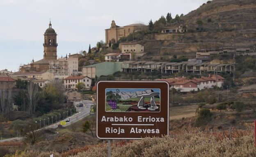
<path fill-rule="evenodd" d="M 127 26 L 120 27 L 116 25 L 114 20 L 112 20 L 111 27 L 109 29 L 105 29 L 106 44 L 109 42 L 117 42 L 121 37 L 126 37 L 135 31 L 142 31 L 147 28 L 148 26 L 145 24 L 129 24 Z"/>

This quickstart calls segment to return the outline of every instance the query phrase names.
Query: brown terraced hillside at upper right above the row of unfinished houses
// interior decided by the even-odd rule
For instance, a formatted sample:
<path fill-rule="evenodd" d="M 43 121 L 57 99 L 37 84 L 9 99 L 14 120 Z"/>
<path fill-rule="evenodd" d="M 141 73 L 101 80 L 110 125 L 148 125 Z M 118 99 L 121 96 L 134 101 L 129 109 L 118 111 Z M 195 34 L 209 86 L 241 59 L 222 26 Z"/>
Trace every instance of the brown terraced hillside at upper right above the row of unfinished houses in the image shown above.
<path fill-rule="evenodd" d="M 201 20 L 201 24 L 197 21 Z M 141 41 L 144 59 L 169 60 L 174 54 L 195 56 L 201 49 L 254 49 L 256 44 L 256 1 L 213 0 L 167 26 L 185 26 L 187 33 L 151 33 Z M 161 56 L 159 56 L 159 54 Z"/>

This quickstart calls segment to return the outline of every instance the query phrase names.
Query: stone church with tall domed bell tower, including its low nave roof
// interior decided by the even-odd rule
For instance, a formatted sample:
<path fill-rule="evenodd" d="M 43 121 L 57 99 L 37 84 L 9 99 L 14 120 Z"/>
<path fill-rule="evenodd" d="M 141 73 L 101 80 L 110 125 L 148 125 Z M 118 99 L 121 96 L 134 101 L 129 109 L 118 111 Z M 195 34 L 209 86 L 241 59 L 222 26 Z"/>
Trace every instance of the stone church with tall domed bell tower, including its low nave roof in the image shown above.
<path fill-rule="evenodd" d="M 44 33 L 44 43 L 43 43 L 43 59 L 32 63 L 21 66 L 21 72 L 44 72 L 49 69 L 49 61 L 57 60 L 57 33 L 52 28 L 50 22 L 49 28 L 46 29 Z"/>

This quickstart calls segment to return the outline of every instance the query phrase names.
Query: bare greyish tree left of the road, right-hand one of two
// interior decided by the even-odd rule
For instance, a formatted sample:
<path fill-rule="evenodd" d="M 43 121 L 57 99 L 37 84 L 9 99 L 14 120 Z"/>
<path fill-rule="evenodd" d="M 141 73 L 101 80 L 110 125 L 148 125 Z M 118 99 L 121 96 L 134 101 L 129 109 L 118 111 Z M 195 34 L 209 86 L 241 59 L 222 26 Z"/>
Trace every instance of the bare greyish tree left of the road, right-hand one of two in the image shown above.
<path fill-rule="evenodd" d="M 27 85 L 27 99 L 28 99 L 28 113 L 36 110 L 37 102 L 39 100 L 38 86 L 30 82 Z"/>

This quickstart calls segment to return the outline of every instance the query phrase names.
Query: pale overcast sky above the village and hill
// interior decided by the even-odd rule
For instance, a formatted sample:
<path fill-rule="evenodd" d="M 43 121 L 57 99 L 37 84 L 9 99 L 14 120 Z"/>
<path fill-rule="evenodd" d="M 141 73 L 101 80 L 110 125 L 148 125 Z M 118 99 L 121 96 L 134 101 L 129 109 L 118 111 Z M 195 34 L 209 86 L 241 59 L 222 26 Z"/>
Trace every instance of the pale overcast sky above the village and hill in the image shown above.
<path fill-rule="evenodd" d="M 0 0 L 0 70 L 43 58 L 43 34 L 51 19 L 57 55 L 88 51 L 119 26 L 148 24 L 171 12 L 184 15 L 207 0 Z"/>

